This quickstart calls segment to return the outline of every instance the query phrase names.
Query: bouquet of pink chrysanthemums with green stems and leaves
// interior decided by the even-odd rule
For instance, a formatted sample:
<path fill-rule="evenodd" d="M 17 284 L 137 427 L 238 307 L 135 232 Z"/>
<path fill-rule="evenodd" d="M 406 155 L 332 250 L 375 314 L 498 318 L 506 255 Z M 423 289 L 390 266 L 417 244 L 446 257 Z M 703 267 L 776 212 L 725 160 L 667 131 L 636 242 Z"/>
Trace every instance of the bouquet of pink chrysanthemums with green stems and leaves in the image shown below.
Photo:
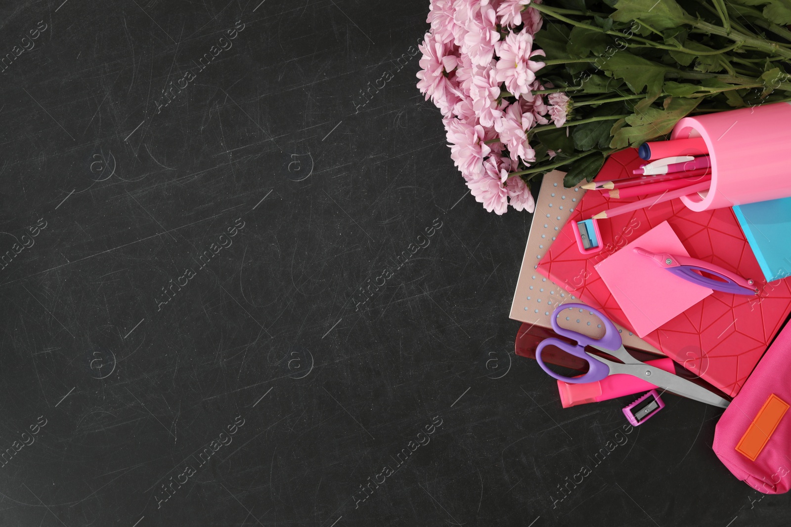
<path fill-rule="evenodd" d="M 487 211 L 686 115 L 791 100 L 789 0 L 431 0 L 418 88 Z"/>

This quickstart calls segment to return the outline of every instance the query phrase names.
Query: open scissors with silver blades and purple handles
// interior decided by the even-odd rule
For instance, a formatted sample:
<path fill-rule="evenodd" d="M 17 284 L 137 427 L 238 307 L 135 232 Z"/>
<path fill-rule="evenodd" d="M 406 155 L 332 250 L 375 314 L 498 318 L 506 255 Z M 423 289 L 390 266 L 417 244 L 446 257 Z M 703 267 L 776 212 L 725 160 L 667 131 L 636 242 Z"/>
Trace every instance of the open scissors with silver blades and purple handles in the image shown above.
<path fill-rule="evenodd" d="M 572 329 L 565 329 L 558 326 L 558 314 L 561 314 L 562 311 L 569 309 L 578 309 L 579 311 L 585 310 L 590 314 L 595 314 L 597 317 L 599 317 L 602 324 L 604 325 L 604 337 L 596 339 L 587 335 L 583 335 L 582 333 L 577 333 Z M 727 408 L 730 404 L 726 399 L 718 396 L 716 393 L 706 390 L 706 388 L 703 388 L 702 386 L 698 386 L 694 382 L 687 381 L 687 379 L 681 378 L 678 375 L 674 375 L 668 371 L 661 370 L 658 367 L 650 366 L 649 364 L 635 359 L 629 354 L 629 352 L 626 351 L 626 348 L 623 347 L 623 339 L 621 338 L 618 328 L 615 327 L 615 324 L 613 324 L 611 320 L 605 317 L 600 311 L 597 311 L 596 309 L 587 306 L 584 303 L 565 303 L 556 307 L 552 313 L 551 322 L 552 329 L 554 329 L 555 333 L 558 333 L 558 335 L 562 335 L 563 337 L 568 337 L 571 340 L 577 342 L 576 345 L 567 344 L 560 339 L 550 337 L 542 341 L 538 345 L 538 348 L 536 348 L 536 361 L 539 363 L 539 366 L 543 371 L 546 371 L 547 374 L 551 375 L 551 377 L 558 379 L 558 381 L 581 384 L 583 382 L 600 381 L 601 379 L 606 378 L 607 375 L 622 373 L 642 378 L 646 382 L 650 382 L 659 388 L 664 388 L 664 390 L 671 391 L 672 393 L 676 393 L 683 397 L 689 397 L 695 401 L 701 401 L 707 405 Z M 544 364 L 543 359 L 541 358 L 541 352 L 543 351 L 543 348 L 546 348 L 550 344 L 552 344 L 555 348 L 560 348 L 564 352 L 570 353 L 573 356 L 580 357 L 581 359 L 587 361 L 588 373 L 579 377 L 564 377 L 562 375 L 556 374 L 554 371 L 551 371 L 549 367 Z M 600 356 L 586 352 L 585 346 L 592 346 L 593 348 L 605 352 L 608 355 L 614 356 L 616 359 L 622 360 L 623 364 L 615 363 L 611 360 L 607 360 Z"/>

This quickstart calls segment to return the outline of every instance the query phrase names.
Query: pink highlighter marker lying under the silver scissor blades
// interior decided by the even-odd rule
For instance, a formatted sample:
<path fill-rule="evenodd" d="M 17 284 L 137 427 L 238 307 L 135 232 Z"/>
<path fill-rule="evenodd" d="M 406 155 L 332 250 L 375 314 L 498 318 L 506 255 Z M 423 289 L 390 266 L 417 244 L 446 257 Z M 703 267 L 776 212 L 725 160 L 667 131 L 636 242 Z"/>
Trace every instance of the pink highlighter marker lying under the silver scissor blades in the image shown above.
<path fill-rule="evenodd" d="M 647 360 L 645 363 L 653 367 L 658 367 L 668 373 L 676 373 L 676 363 L 669 357 Z M 642 378 L 626 374 L 608 375 L 600 381 L 585 382 L 582 384 L 571 384 L 570 382 L 558 381 L 560 402 L 563 408 L 570 408 L 571 406 L 585 405 L 586 403 L 598 401 L 607 401 L 608 399 L 615 399 L 615 397 L 634 395 L 634 393 L 647 392 L 656 388 L 657 386 L 642 380 Z"/>

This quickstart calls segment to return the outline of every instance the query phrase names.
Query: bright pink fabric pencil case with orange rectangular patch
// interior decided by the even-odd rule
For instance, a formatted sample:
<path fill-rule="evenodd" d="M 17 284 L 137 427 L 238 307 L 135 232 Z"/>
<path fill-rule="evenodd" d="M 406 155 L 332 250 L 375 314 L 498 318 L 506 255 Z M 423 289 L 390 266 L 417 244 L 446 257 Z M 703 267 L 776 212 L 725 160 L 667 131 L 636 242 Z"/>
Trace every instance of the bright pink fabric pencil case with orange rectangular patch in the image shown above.
<path fill-rule="evenodd" d="M 734 476 L 764 494 L 791 488 L 791 323 L 725 408 L 713 449 Z"/>

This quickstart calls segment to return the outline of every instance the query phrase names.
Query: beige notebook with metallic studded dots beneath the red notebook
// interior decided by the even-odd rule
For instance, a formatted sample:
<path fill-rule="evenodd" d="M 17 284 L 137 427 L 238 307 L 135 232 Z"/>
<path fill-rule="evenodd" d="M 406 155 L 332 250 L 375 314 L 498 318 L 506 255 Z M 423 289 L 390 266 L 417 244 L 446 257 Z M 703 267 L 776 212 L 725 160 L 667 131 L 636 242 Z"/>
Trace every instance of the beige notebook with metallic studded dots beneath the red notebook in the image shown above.
<path fill-rule="evenodd" d="M 539 260 L 547 252 L 551 243 L 554 242 L 555 236 L 558 235 L 577 207 L 577 203 L 585 195 L 585 189 L 581 189 L 579 186 L 573 189 L 564 188 L 564 175 L 566 175 L 564 172 L 554 170 L 543 176 L 539 198 L 536 201 L 536 213 L 533 214 L 528 235 L 528 247 L 524 250 L 522 269 L 517 281 L 517 292 L 513 295 L 509 317 L 550 329 L 552 327 L 550 315 L 558 305 L 579 302 L 579 299 L 570 295 L 558 284 L 536 273 Z M 579 333 L 588 333 L 592 337 L 604 335 L 604 329 L 596 327 L 599 325 L 596 317 L 587 313 L 585 316 L 583 314 L 577 316 L 578 319 L 562 320 L 558 323 L 562 322 L 562 327 L 573 329 Z M 616 326 L 621 331 L 623 344 L 626 346 L 664 356 L 664 353 L 634 333 L 617 324 Z"/>

